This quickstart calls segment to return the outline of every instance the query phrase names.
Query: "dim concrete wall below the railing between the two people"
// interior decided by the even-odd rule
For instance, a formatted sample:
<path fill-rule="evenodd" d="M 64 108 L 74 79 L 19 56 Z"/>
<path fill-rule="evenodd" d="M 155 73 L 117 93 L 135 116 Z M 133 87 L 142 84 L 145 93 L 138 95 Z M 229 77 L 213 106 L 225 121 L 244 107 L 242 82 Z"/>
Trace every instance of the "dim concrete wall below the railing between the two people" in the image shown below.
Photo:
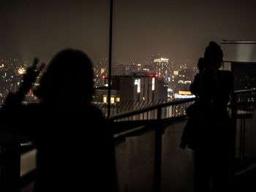
<path fill-rule="evenodd" d="M 186 120 L 167 127 L 162 136 L 162 191 L 193 191 L 192 150 L 179 146 Z M 120 192 L 154 191 L 154 131 L 116 144 Z"/>

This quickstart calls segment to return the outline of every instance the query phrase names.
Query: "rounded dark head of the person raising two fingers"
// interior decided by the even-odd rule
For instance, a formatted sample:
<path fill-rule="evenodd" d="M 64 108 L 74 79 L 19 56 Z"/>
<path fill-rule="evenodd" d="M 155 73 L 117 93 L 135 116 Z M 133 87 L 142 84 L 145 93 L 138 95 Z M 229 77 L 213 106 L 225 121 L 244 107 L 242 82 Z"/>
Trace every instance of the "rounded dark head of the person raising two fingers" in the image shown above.
<path fill-rule="evenodd" d="M 67 49 L 53 57 L 35 94 L 45 102 L 75 107 L 89 104 L 93 91 L 89 57 L 80 50 Z"/>

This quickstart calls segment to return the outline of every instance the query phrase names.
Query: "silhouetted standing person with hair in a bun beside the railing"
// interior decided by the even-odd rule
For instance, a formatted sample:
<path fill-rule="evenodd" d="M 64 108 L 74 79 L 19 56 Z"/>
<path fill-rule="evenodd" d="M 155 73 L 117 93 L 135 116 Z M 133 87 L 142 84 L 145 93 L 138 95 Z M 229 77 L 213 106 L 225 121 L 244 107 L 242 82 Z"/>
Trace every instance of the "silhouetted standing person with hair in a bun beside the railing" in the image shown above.
<path fill-rule="evenodd" d="M 210 42 L 190 87 L 197 101 L 188 109 L 191 124 L 184 130 L 181 147 L 195 150 L 195 191 L 226 191 L 229 185 L 233 132 L 227 103 L 233 91 L 233 74 L 219 70 L 222 57 L 219 45 Z"/>

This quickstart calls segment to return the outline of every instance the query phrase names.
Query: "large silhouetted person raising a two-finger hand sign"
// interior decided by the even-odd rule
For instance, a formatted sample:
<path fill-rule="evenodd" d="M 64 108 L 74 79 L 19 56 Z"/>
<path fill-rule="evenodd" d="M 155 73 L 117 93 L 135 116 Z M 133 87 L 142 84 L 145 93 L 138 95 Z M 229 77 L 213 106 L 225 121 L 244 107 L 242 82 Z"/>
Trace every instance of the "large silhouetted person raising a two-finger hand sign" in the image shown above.
<path fill-rule="evenodd" d="M 34 61 L 1 110 L 4 128 L 31 137 L 37 147 L 34 191 L 116 191 L 112 134 L 91 105 L 91 61 L 79 50 L 61 51 L 34 90 L 41 102 L 23 105 L 42 67 Z"/>

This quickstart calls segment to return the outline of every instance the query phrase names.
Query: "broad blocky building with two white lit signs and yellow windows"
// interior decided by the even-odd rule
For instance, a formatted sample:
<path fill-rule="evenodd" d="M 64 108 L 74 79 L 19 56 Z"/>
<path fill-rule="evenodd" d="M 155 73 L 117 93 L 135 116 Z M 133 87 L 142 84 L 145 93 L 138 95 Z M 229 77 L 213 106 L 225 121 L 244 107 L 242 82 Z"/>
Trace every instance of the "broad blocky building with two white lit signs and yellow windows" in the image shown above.
<path fill-rule="evenodd" d="M 104 87 L 95 89 L 95 102 L 108 102 L 108 77 L 102 77 Z M 124 101 L 153 104 L 154 101 L 167 101 L 167 85 L 162 78 L 154 74 L 141 76 L 111 77 L 111 103 Z"/>

